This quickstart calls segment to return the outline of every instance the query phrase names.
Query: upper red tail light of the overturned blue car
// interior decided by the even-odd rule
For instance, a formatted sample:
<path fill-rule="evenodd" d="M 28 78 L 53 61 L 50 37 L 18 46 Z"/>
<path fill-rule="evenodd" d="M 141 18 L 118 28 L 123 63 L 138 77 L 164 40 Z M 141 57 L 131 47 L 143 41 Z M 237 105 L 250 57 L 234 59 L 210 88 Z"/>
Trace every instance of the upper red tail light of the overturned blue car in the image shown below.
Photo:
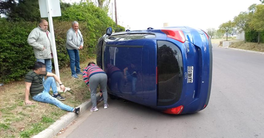
<path fill-rule="evenodd" d="M 173 39 L 180 41 L 182 43 L 184 43 L 186 40 L 184 33 L 179 29 L 162 29 L 161 31 L 163 33 L 165 33 L 167 35 L 167 37 L 173 38 Z"/>

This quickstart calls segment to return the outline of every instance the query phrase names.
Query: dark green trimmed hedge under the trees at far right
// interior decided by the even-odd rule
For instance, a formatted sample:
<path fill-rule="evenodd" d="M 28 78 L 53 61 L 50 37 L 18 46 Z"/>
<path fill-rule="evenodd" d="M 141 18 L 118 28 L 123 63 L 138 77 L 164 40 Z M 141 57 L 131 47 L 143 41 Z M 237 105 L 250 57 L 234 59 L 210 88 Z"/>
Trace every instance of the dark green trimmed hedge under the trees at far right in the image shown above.
<path fill-rule="evenodd" d="M 253 30 L 246 31 L 246 41 L 247 42 L 258 42 L 258 32 Z M 259 42 L 264 43 L 264 31 L 260 32 Z"/>

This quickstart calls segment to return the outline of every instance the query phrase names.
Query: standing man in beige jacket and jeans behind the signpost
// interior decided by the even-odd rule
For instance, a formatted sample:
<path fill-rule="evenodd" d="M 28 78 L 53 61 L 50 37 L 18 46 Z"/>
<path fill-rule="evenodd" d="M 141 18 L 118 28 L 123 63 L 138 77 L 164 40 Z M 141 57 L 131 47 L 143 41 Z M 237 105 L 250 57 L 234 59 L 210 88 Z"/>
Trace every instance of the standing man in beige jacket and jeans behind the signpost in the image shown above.
<path fill-rule="evenodd" d="M 27 42 L 33 47 L 37 61 L 46 64 L 46 71 L 51 72 L 53 46 L 51 44 L 51 35 L 47 29 L 48 22 L 42 19 L 39 26 L 30 32 Z"/>

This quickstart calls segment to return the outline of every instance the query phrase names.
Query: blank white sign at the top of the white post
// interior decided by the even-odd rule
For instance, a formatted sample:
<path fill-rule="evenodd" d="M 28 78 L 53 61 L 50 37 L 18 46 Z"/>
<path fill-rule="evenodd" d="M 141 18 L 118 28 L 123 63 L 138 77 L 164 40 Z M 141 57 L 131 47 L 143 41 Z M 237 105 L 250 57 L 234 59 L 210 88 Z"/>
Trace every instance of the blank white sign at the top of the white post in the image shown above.
<path fill-rule="evenodd" d="M 49 1 L 52 17 L 61 16 L 60 0 L 38 0 L 41 18 L 48 17 L 46 1 Z"/>

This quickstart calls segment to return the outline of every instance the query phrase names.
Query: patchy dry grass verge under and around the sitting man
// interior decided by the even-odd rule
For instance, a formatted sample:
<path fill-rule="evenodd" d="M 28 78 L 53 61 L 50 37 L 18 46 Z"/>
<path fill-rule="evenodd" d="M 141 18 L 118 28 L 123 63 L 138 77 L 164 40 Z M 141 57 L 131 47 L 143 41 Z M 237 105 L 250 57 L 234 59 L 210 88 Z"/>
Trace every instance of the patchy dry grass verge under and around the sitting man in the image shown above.
<path fill-rule="evenodd" d="M 80 64 L 81 69 L 95 59 L 88 59 Z M 82 77 L 71 77 L 69 67 L 60 69 L 60 79 L 71 91 L 61 93 L 66 100 L 63 103 L 77 107 L 90 98 L 90 93 Z M 50 92 L 50 94 L 52 94 Z M 30 137 L 46 129 L 67 111 L 48 104 L 31 100 L 34 104 L 25 105 L 25 82 L 10 82 L 0 86 L 0 137 Z M 74 114 L 74 113 L 73 113 Z"/>

